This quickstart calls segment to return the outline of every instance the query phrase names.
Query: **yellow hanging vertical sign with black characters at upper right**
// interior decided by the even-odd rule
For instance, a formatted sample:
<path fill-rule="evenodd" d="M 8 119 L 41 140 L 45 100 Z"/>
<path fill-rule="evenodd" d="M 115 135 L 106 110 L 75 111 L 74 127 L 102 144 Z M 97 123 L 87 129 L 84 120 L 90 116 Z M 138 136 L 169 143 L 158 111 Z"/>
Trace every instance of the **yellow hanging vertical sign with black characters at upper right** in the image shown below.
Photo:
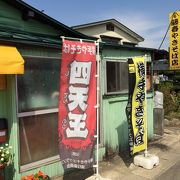
<path fill-rule="evenodd" d="M 170 70 L 180 69 L 180 11 L 169 15 L 170 18 Z"/>

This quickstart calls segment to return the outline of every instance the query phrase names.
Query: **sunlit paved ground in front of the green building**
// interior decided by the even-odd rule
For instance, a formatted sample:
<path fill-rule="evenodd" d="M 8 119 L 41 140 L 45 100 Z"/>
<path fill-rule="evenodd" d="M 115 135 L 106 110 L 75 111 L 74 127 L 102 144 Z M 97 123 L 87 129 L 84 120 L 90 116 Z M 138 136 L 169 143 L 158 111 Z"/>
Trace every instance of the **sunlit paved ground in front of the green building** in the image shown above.
<path fill-rule="evenodd" d="M 159 166 L 152 170 L 135 166 L 127 153 L 100 162 L 100 175 L 95 178 L 93 169 L 76 170 L 53 180 L 180 180 L 180 128 L 166 128 L 163 137 L 156 137 L 148 144 L 150 154 L 160 159 Z"/>

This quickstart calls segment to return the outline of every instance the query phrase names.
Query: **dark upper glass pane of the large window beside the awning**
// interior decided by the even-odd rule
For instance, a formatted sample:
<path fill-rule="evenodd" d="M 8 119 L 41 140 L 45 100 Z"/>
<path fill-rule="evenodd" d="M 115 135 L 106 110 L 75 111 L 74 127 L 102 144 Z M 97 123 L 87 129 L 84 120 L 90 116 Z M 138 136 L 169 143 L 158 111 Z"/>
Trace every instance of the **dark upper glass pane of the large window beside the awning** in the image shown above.
<path fill-rule="evenodd" d="M 27 112 L 58 106 L 60 61 L 27 59 L 18 75 L 18 110 Z"/>

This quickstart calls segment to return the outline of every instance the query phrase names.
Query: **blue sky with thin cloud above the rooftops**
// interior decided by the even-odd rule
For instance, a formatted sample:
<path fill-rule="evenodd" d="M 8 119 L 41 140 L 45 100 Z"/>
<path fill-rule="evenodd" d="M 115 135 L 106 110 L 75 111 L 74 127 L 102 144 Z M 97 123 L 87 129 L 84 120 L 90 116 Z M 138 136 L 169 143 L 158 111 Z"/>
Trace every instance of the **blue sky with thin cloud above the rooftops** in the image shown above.
<path fill-rule="evenodd" d="M 24 0 L 68 26 L 114 18 L 145 38 L 140 44 L 158 48 L 169 25 L 169 13 L 180 0 Z M 169 35 L 162 49 L 168 49 Z"/>

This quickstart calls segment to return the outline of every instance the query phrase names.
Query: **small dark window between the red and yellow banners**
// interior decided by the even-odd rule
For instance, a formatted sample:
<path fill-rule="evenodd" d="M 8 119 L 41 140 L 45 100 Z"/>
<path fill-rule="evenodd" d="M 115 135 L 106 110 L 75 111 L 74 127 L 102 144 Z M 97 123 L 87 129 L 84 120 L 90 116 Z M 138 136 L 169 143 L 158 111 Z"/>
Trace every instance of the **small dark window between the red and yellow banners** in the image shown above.
<path fill-rule="evenodd" d="M 107 93 L 128 91 L 127 61 L 106 61 L 106 85 Z"/>

